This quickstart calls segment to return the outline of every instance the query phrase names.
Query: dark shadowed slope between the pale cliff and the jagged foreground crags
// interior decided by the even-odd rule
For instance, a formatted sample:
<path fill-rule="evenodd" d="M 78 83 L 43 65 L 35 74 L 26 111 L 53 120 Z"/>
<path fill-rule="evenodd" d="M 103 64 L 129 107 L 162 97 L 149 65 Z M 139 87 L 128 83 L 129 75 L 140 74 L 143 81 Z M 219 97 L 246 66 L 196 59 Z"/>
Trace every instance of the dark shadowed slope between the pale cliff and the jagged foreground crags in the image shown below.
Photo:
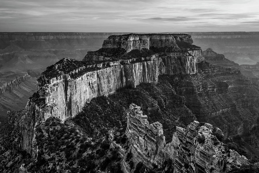
<path fill-rule="evenodd" d="M 166 141 L 171 142 L 176 126 L 186 127 L 195 119 L 185 106 L 185 99 L 175 94 L 166 80 L 157 85 L 140 84 L 136 88 L 124 88 L 108 97 L 98 97 L 86 103 L 83 111 L 71 120 L 88 135 L 101 135 L 113 127 L 126 125 L 126 113 L 130 104 L 142 107 L 149 123 L 159 121 L 163 125 Z"/>

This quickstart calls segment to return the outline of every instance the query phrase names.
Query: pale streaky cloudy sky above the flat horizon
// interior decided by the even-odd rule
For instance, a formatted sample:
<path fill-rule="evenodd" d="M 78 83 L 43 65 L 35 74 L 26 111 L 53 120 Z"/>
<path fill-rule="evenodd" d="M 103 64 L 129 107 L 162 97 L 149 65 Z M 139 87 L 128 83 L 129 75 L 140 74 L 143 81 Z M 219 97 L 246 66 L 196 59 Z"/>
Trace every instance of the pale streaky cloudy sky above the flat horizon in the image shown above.
<path fill-rule="evenodd" d="M 0 0 L 0 31 L 259 31 L 259 0 Z"/>

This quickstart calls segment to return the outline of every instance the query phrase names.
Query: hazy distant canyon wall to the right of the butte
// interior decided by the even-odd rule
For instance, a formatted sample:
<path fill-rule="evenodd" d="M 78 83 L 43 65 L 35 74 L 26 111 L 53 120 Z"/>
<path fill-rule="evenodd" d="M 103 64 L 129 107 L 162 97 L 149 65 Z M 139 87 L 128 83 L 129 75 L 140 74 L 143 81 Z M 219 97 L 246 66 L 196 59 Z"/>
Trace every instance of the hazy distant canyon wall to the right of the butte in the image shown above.
<path fill-rule="evenodd" d="M 215 52 L 241 64 L 259 61 L 259 32 L 191 32 L 193 42 L 202 50 L 212 48 Z"/>

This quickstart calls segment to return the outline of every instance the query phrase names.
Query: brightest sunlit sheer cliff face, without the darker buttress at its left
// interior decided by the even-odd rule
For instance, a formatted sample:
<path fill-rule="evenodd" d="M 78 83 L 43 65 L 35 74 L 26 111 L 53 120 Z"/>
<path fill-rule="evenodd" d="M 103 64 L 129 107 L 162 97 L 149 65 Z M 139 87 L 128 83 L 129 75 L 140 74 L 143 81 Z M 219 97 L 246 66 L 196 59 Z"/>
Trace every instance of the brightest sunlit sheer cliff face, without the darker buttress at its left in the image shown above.
<path fill-rule="evenodd" d="M 139 63 L 130 63 L 134 59 L 127 60 L 128 64 L 122 65 L 120 61 L 108 62 L 106 68 L 86 72 L 83 75 L 74 78 L 77 74 L 71 72 L 62 76 L 54 77 L 43 88 L 42 95 L 45 98 L 45 104 L 49 105 L 50 111 L 44 112 L 47 119 L 55 116 L 61 120 L 78 114 L 85 102 L 92 98 L 107 96 L 114 93 L 117 89 L 125 86 L 136 87 L 141 83 L 157 83 L 159 69 L 158 57 L 154 55 L 149 57 L 148 61 Z M 71 60 L 64 59 L 69 63 Z M 97 64 L 102 67 L 103 64 Z"/>

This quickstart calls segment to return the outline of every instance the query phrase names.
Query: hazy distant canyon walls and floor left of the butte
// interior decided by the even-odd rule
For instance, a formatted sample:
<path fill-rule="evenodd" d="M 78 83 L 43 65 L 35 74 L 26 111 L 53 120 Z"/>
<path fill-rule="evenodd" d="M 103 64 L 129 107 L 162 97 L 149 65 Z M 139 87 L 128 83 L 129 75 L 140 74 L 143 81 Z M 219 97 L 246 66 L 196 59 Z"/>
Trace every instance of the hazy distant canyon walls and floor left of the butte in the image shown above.
<path fill-rule="evenodd" d="M 1 32 L 0 90 L 3 91 L 0 91 L 0 116 L 6 117 L 7 110 L 12 110 L 9 100 L 17 105 L 13 105 L 13 110 L 26 105 L 27 98 L 35 92 L 36 78 L 47 66 L 64 57 L 81 60 L 87 51 L 98 49 L 112 34 Z M 16 90 L 20 88 L 24 94 L 17 97 Z"/>

